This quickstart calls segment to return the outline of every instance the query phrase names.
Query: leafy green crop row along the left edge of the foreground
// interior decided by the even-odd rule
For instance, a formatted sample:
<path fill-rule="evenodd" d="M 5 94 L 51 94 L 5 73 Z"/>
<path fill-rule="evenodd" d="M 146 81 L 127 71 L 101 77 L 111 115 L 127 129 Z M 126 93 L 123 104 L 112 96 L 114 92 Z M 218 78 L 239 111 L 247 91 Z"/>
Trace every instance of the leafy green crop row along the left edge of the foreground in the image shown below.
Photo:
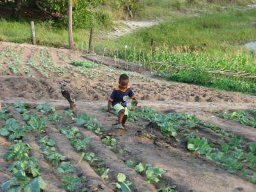
<path fill-rule="evenodd" d="M 27 112 L 30 106 L 24 103 L 14 103 L 14 108 L 19 113 Z M 35 157 L 29 156 L 31 147 L 23 143 L 21 139 L 26 136 L 29 128 L 27 125 L 20 125 L 12 114 L 8 114 L 9 106 L 3 106 L 1 115 L 6 120 L 0 129 L 2 136 L 8 137 L 10 141 L 15 140 L 4 158 L 10 162 L 8 172 L 12 173 L 10 180 L 1 184 L 1 191 L 40 191 L 46 188 L 46 184 L 40 176 L 40 170 Z"/>

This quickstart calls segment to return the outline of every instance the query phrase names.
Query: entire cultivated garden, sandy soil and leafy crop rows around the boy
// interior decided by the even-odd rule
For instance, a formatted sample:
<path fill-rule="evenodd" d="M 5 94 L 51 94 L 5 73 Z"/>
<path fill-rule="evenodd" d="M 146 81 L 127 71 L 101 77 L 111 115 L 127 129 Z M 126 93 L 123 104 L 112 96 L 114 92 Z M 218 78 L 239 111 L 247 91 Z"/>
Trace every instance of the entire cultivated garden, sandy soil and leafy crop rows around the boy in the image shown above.
<path fill-rule="evenodd" d="M 44 191 L 255 191 L 254 124 L 240 124 L 241 115 L 232 122 L 216 114 L 252 111 L 254 96 L 168 83 L 63 49 L 4 42 L 0 48 L 0 60 L 20 71 L 15 76 L 8 65 L 0 68 L 7 71 L 0 78 L 0 101 L 9 105 L 0 113 L 0 148 L 5 154 L 20 140 L 29 144 L 28 158 L 15 161 L 36 159 L 36 173 L 28 165 L 21 182 L 15 170 L 8 171 L 13 160 L 0 156 L 1 182 L 19 180 L 6 188 L 42 178 Z M 116 131 L 116 116 L 102 108 L 124 72 L 140 105 L 150 108 L 132 111 L 126 130 Z M 61 100 L 60 81 L 68 83 L 76 111 Z M 247 117 L 252 121 L 253 112 Z"/>

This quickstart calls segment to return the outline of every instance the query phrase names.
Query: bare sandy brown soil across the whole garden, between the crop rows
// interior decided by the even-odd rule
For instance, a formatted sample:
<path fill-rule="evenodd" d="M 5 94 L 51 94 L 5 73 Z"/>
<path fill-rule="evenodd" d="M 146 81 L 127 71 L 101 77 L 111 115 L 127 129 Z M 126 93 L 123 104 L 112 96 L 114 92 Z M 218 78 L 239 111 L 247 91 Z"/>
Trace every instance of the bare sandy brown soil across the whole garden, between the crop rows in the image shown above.
<path fill-rule="evenodd" d="M 70 141 L 58 131 L 60 126 L 72 126 L 74 121 L 63 119 L 61 124 L 48 123 L 45 134 L 56 141 L 56 148 L 60 154 L 67 156 L 75 164 L 76 174 L 85 175 L 86 186 L 90 191 L 115 191 L 111 182 L 116 180 L 118 173 L 125 173 L 127 179 L 132 180 L 132 191 L 156 191 L 163 186 L 177 185 L 177 191 L 256 191 L 255 184 L 247 182 L 239 177 L 239 174 L 227 173 L 224 168 L 207 161 L 204 157 L 196 156 L 186 150 L 186 141 L 180 145 L 177 141 L 161 137 L 154 127 L 145 129 L 148 122 L 139 120 L 143 126 L 136 122 L 127 122 L 125 131 L 116 131 L 112 124 L 116 122 L 116 116 L 103 112 L 106 107 L 109 93 L 115 88 L 118 76 L 124 73 L 115 66 L 96 64 L 94 68 L 81 70 L 80 67 L 70 65 L 72 60 L 84 60 L 77 52 L 69 52 L 65 49 L 54 49 L 49 47 L 39 47 L 27 44 L 10 44 L 0 42 L 0 54 L 6 46 L 17 54 L 23 49 L 20 63 L 15 62 L 15 56 L 0 57 L 0 102 L 12 104 L 13 102 L 28 102 L 33 106 L 49 101 L 56 109 L 63 114 L 63 109 L 68 108 L 67 100 L 63 100 L 60 93 L 59 82 L 68 83 L 68 88 L 76 98 L 76 113 L 86 112 L 88 115 L 97 118 L 103 125 L 104 135 L 113 135 L 118 140 L 116 148 L 111 150 L 100 141 L 100 137 L 92 131 L 79 127 L 83 136 L 91 138 L 90 151 L 102 157 L 110 169 L 110 179 L 102 180 L 99 173 L 93 170 L 93 166 L 85 160 L 81 164 L 77 163 L 81 153 L 76 152 L 70 145 Z M 42 63 L 42 50 L 46 51 L 45 58 L 50 58 L 52 68 L 46 68 Z M 31 65 L 30 58 L 36 52 L 35 65 Z M 49 51 L 49 52 L 47 52 Z M 28 67 L 31 75 L 24 72 L 14 76 L 12 70 L 8 68 L 5 61 L 10 61 L 18 67 Z M 109 61 L 110 62 L 110 61 Z M 2 67 L 2 68 L 1 68 Z M 61 67 L 61 70 L 60 68 Z M 23 71 L 23 69 L 22 69 Z M 45 77 L 45 72 L 51 76 Z M 61 74 L 60 74 L 61 72 Z M 214 113 L 223 110 L 252 109 L 256 106 L 256 97 L 234 92 L 222 92 L 202 86 L 191 84 L 173 83 L 154 79 L 147 74 L 139 74 L 129 71 L 131 86 L 138 95 L 139 105 L 148 106 L 159 112 L 183 112 L 197 115 L 205 122 L 212 122 L 219 125 L 221 129 L 234 132 L 244 136 L 246 141 L 255 141 L 255 129 L 240 124 L 221 120 L 214 116 Z M 21 124 L 21 116 L 11 108 Z M 31 110 L 31 113 L 36 113 Z M 0 127 L 4 124 L 0 120 Z M 198 134 L 210 141 L 220 144 L 227 138 L 216 134 L 213 131 L 198 127 Z M 152 140 L 150 137 L 141 136 L 143 132 L 150 136 L 155 134 L 161 140 Z M 61 190 L 61 180 L 56 172 L 51 171 L 52 167 L 42 155 L 40 148 L 33 134 L 24 138 L 32 146 L 33 156 L 40 162 L 42 176 L 54 191 Z M 8 163 L 4 161 L 3 155 L 12 143 L 0 137 L 0 162 L 4 170 Z M 120 152 L 120 150 L 125 152 Z M 125 162 L 132 159 L 136 163 L 149 163 L 163 168 L 165 173 L 159 184 L 148 184 L 145 182 L 145 175 L 140 175 L 134 168 L 126 166 Z M 3 161 L 3 162 L 2 162 Z M 1 167 L 2 168 L 2 167 Z M 4 171 L 0 173 L 0 181 L 3 182 L 10 177 L 10 173 Z"/>

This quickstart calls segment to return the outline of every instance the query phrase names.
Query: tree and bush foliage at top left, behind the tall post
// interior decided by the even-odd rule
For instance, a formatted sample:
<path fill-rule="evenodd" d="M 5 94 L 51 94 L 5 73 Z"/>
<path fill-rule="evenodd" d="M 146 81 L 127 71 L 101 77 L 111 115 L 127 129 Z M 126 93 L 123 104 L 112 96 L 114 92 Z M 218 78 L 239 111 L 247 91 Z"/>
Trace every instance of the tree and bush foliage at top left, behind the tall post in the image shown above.
<path fill-rule="evenodd" d="M 29 8 L 45 12 L 63 26 L 67 25 L 68 0 L 4 0 L 3 3 L 12 4 L 12 17 L 15 19 L 19 18 L 20 10 L 29 4 Z M 106 10 L 104 6 L 108 6 L 109 9 Z M 116 12 L 132 18 L 141 8 L 140 0 L 73 0 L 73 26 L 76 28 L 111 26 L 113 19 L 118 17 Z"/>

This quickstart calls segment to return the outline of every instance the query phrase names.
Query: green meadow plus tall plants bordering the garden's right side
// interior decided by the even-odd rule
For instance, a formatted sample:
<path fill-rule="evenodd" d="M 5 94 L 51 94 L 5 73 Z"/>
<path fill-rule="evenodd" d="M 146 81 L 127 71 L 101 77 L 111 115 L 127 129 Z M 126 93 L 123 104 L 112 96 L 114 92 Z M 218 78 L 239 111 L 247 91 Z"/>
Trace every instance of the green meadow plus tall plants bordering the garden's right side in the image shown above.
<path fill-rule="evenodd" d="M 240 46 L 256 38 L 255 14 L 255 10 L 247 10 L 182 17 L 140 29 L 103 47 L 107 47 L 105 54 L 114 56 L 118 50 L 118 58 L 140 61 L 158 76 L 169 76 L 172 81 L 255 93 L 255 80 L 248 75 L 225 76 L 212 72 L 221 69 L 229 70 L 227 74 L 256 72 L 253 54 Z M 155 42 L 152 54 L 151 38 Z"/>

